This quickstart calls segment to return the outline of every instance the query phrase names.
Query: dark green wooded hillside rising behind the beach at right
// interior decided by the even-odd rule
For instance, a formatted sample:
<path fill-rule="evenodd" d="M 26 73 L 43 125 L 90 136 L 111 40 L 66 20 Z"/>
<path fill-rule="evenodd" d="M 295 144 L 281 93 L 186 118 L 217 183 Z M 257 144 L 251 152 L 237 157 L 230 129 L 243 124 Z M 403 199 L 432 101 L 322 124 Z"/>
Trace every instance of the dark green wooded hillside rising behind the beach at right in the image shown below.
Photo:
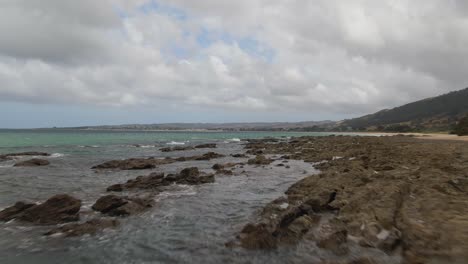
<path fill-rule="evenodd" d="M 339 130 L 357 131 L 450 131 L 468 113 L 468 88 L 344 120 Z"/>

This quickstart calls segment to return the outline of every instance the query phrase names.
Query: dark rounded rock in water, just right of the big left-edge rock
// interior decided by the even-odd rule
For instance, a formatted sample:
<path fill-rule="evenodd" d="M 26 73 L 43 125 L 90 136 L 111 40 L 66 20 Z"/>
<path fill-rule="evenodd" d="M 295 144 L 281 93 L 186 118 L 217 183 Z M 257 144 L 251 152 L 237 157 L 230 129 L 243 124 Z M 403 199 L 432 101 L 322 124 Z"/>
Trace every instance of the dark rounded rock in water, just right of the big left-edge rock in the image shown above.
<path fill-rule="evenodd" d="M 128 216 L 141 213 L 152 206 L 151 199 L 106 195 L 99 198 L 92 208 L 110 216 Z"/>

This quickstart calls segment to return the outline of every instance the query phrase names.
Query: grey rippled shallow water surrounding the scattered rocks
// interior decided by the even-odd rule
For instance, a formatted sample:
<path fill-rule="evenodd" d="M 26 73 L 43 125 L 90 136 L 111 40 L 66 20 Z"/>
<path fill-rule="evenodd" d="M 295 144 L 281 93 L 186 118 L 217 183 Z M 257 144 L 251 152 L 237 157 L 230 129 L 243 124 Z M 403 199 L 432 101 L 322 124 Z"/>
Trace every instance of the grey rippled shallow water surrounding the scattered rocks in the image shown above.
<path fill-rule="evenodd" d="M 114 135 L 119 138 L 117 143 L 98 142 L 91 137 L 92 140 L 88 138 L 75 145 L 44 146 L 38 143 L 0 148 L 1 153 L 33 150 L 56 153 L 47 157 L 51 165 L 45 167 L 17 168 L 12 167 L 14 161 L 0 162 L 0 208 L 19 200 L 43 201 L 54 194 L 67 193 L 82 199 L 81 215 L 82 220 L 86 220 L 98 215 L 90 207 L 106 194 L 105 188 L 112 184 L 151 172 L 173 173 L 191 166 L 210 173 L 215 163 L 247 160 L 228 156 L 245 152 L 243 142 L 237 140 L 245 136 L 242 133 L 219 134 L 211 139 L 209 135 L 195 135 L 189 133 L 191 138 L 176 135 L 165 138 L 165 141 L 154 137 L 135 140 L 133 136 Z M 274 135 L 280 138 L 288 136 L 284 133 Z M 70 142 L 76 141 L 74 136 L 68 135 Z M 44 137 L 53 135 L 43 135 L 32 141 L 43 144 Z M 206 138 L 198 139 L 201 137 Z M 218 148 L 170 153 L 159 151 L 159 147 L 177 142 L 185 145 L 215 142 Z M 135 143 L 142 146 L 135 147 Z M 111 159 L 180 157 L 208 151 L 226 154 L 227 157 L 178 162 L 143 171 L 95 172 L 90 169 Z M 281 162 L 278 159 L 263 167 L 236 167 L 234 176 L 217 175 L 213 184 L 170 186 L 155 197 L 156 205 L 151 210 L 121 218 L 119 228 L 93 237 L 44 237 L 42 234 L 52 227 L 34 227 L 15 221 L 0 223 L 0 263 L 314 263 L 320 258 L 333 259 L 334 256 L 307 242 L 274 251 L 248 251 L 224 246 L 245 224 L 255 221 L 264 205 L 282 196 L 296 181 L 317 172 L 311 164 L 301 161 L 289 161 L 290 169 L 275 166 Z"/>

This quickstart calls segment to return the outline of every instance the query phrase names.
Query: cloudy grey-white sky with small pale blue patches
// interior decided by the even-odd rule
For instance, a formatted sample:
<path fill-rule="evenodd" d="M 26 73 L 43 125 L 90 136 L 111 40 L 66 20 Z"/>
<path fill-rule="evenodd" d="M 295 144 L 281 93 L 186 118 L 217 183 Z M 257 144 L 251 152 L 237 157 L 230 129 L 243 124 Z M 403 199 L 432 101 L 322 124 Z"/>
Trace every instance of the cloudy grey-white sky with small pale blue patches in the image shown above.
<path fill-rule="evenodd" d="M 465 0 L 0 0 L 0 127 L 342 119 L 468 86 Z"/>

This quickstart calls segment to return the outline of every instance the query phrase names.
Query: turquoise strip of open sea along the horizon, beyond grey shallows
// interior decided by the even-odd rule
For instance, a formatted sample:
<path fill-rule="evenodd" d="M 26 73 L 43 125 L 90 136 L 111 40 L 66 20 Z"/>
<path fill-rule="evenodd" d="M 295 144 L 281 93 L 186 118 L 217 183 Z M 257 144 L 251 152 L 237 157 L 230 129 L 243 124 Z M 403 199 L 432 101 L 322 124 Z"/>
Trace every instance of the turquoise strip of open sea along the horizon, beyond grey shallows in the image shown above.
<path fill-rule="evenodd" d="M 193 131 L 105 131 L 105 130 L 0 130 L 0 148 L 157 144 L 264 137 L 324 136 L 316 132 L 193 132 Z"/>

